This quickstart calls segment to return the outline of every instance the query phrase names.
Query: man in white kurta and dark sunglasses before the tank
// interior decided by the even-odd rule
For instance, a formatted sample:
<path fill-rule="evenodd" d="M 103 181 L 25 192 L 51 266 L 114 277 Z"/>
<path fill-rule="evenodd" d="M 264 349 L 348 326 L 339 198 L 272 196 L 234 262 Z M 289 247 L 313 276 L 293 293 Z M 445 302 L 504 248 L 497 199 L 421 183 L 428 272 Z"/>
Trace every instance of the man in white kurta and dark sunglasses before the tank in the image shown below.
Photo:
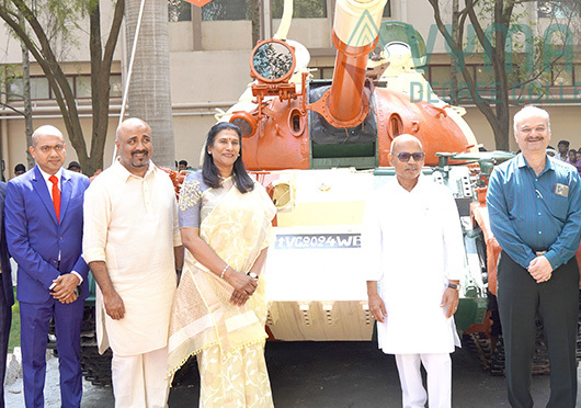
<path fill-rule="evenodd" d="M 396 354 L 403 407 L 425 406 L 423 363 L 430 408 L 449 408 L 449 353 L 460 345 L 452 316 L 465 252 L 452 192 L 421 175 L 423 158 L 415 137 L 394 140 L 396 178 L 368 202 L 362 243 L 369 309 L 377 319 L 379 348 Z"/>

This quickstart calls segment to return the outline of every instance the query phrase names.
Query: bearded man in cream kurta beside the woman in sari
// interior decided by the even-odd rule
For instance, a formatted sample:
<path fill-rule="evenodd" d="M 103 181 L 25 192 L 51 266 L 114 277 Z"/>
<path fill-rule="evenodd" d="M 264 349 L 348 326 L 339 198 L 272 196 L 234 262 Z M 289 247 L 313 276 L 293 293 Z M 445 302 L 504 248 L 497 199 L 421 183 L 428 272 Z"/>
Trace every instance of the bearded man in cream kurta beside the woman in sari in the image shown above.
<path fill-rule="evenodd" d="M 100 288 L 96 333 L 100 351 L 113 350 L 115 406 L 161 408 L 169 392 L 174 248 L 176 254 L 181 249 L 175 193 L 169 175 L 149 160 L 145 122 L 125 121 L 116 144 L 119 160 L 86 194 L 83 258 Z"/>

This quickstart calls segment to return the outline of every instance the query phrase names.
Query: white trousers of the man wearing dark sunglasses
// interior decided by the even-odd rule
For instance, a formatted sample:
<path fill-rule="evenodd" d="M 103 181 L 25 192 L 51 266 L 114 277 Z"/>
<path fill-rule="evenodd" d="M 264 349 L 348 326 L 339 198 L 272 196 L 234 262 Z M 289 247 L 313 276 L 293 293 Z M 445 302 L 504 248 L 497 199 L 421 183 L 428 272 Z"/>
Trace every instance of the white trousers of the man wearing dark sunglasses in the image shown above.
<path fill-rule="evenodd" d="M 428 394 L 422 384 L 420 363 L 428 373 Z M 448 353 L 396 354 L 396 364 L 403 408 L 424 408 L 428 395 L 430 408 L 452 407 L 452 360 Z"/>

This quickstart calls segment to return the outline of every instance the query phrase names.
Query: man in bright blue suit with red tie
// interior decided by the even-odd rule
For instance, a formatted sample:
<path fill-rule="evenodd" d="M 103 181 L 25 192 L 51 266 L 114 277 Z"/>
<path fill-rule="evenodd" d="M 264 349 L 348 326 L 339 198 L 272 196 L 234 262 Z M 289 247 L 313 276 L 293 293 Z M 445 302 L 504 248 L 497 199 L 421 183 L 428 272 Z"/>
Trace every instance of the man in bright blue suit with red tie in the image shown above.
<path fill-rule="evenodd" d="M 86 175 L 62 169 L 66 145 L 53 126 L 32 136 L 36 166 L 8 182 L 8 248 L 19 264 L 22 372 L 26 408 L 44 407 L 48 324 L 55 317 L 61 407 L 81 405 L 80 333 L 89 268 L 81 258 Z"/>

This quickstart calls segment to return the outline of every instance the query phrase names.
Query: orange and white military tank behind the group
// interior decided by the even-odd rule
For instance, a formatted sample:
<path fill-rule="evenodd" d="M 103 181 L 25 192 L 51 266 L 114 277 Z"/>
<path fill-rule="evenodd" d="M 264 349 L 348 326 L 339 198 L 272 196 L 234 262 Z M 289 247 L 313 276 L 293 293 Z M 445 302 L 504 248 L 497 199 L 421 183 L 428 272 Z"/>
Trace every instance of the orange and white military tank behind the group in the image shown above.
<path fill-rule="evenodd" d="M 466 259 L 457 328 L 488 330 L 486 268 L 470 216 L 482 157 L 465 112 L 441 101 L 417 69 L 424 61 L 421 35 L 409 24 L 381 22 L 386 0 L 335 4 L 332 79 L 311 79 L 308 50 L 286 38 L 286 2 L 282 29 L 251 53 L 254 81 L 218 117 L 242 129 L 244 165 L 277 208 L 266 263 L 269 335 L 286 341 L 372 338 L 360 277 L 361 223 L 374 190 L 395 177 L 390 145 L 405 133 L 421 140 L 424 174 L 448 186 L 459 209 Z M 488 154 L 487 160 L 502 157 Z"/>

